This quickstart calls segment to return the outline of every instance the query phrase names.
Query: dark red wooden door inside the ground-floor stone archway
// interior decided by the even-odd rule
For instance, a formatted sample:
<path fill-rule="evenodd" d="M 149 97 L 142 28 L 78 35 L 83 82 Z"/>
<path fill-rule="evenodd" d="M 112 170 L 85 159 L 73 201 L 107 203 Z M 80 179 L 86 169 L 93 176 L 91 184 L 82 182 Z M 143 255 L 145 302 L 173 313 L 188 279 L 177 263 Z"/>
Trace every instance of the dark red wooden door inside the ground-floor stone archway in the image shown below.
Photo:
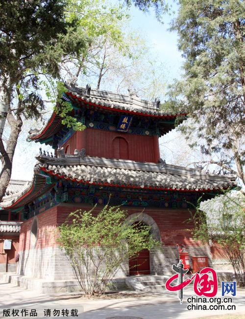
<path fill-rule="evenodd" d="M 147 249 L 140 251 L 138 257 L 129 259 L 129 276 L 149 275 L 150 256 Z"/>

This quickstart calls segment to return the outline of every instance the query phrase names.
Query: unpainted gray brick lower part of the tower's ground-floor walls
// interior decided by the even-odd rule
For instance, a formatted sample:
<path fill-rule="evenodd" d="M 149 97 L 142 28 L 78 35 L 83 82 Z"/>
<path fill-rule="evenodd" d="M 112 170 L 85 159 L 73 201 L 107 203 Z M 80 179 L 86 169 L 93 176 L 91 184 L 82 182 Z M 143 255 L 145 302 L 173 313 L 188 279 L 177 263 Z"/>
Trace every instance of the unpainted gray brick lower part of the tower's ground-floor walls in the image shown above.
<path fill-rule="evenodd" d="M 188 247 L 187 251 L 190 257 L 193 255 L 207 255 L 209 266 L 213 266 L 208 246 Z M 163 251 L 151 251 L 151 275 L 172 274 L 172 264 L 176 264 L 177 258 L 178 253 L 175 246 L 164 246 Z M 59 247 L 30 249 L 20 252 L 17 274 L 49 280 L 75 279 L 70 261 Z M 128 274 L 129 266 L 128 262 L 125 261 L 118 270 L 116 277 L 125 277 Z"/>

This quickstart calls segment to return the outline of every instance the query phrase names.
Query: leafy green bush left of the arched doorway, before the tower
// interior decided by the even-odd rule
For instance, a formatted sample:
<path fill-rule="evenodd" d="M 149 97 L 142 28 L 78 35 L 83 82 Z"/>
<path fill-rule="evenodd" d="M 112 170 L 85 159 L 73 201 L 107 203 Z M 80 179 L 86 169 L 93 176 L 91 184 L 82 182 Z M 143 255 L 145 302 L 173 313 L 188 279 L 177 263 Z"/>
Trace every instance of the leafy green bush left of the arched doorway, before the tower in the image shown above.
<path fill-rule="evenodd" d="M 127 212 L 105 205 L 98 213 L 77 210 L 59 227 L 58 243 L 65 250 L 76 278 L 87 295 L 104 294 L 130 258 L 143 249 L 159 249 L 150 226 L 125 222 Z"/>

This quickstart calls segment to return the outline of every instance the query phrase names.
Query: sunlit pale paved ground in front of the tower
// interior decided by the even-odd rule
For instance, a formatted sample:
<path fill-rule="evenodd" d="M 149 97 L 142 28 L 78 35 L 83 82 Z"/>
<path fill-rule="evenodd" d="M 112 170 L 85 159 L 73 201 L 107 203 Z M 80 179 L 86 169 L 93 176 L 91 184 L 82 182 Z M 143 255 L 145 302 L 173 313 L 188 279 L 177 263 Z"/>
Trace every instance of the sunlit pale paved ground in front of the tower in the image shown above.
<path fill-rule="evenodd" d="M 187 298 L 194 296 L 192 289 L 184 290 L 184 302 L 182 305 L 176 299 L 175 293 L 163 291 L 156 295 L 147 294 L 140 297 L 122 296 L 121 298 L 100 298 L 87 299 L 81 295 L 74 294 L 38 294 L 24 288 L 13 286 L 8 283 L 0 283 L 0 318 L 3 317 L 3 310 L 10 310 L 10 316 L 7 318 L 24 318 L 26 310 L 28 314 L 31 309 L 36 310 L 35 318 L 49 318 L 45 316 L 44 311 L 50 309 L 50 318 L 80 318 L 80 319 L 106 319 L 115 316 L 131 316 L 142 319 L 188 319 L 204 318 L 206 316 L 215 316 L 227 314 L 237 315 L 238 318 L 245 318 L 245 290 L 238 289 L 237 296 L 233 297 L 232 303 L 224 304 L 235 305 L 236 310 L 187 310 Z M 221 297 L 218 296 L 217 297 Z M 217 304 L 217 303 L 216 303 Z M 198 304 L 200 306 L 200 304 Z M 202 303 L 202 305 L 204 305 Z M 206 304 L 208 307 L 210 304 Z M 196 302 L 193 306 L 197 306 Z M 12 311 L 19 310 L 19 316 L 13 316 Z M 53 311 L 59 310 L 54 316 Z M 69 311 L 69 316 L 62 314 L 62 309 Z M 72 317 L 73 309 L 77 309 L 78 317 Z M 6 312 L 5 312 L 6 314 Z M 64 315 L 64 316 L 63 316 Z M 30 315 L 26 317 L 30 318 Z M 227 316 L 226 316 L 227 317 Z M 4 316 L 5 318 L 5 316 Z M 219 317 L 219 318 L 222 318 Z M 236 317 L 231 317 L 236 318 Z"/>

